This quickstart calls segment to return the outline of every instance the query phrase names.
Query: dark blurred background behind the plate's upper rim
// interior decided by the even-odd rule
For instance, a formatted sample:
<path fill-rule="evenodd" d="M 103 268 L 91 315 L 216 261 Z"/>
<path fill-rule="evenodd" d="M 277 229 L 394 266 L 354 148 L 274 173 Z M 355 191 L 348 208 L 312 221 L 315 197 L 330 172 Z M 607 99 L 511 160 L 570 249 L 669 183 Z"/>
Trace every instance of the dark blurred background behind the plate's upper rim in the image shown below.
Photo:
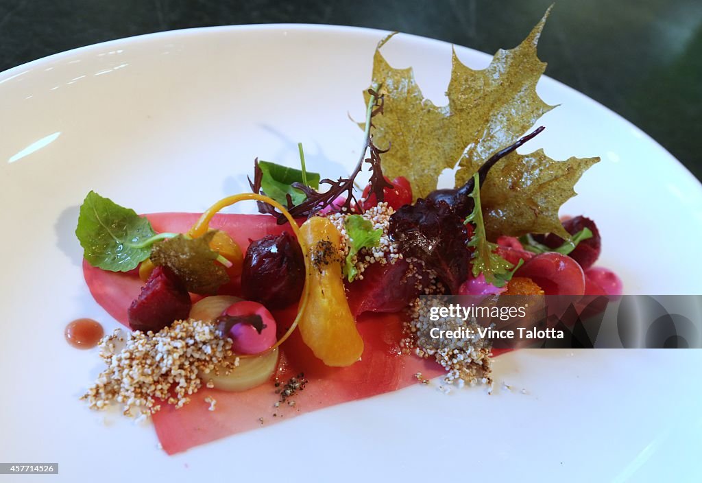
<path fill-rule="evenodd" d="M 399 30 L 494 53 L 551 0 L 0 0 L 0 71 L 70 48 L 163 30 L 304 22 Z M 558 0 L 539 44 L 546 74 L 649 133 L 702 179 L 702 1 Z"/>

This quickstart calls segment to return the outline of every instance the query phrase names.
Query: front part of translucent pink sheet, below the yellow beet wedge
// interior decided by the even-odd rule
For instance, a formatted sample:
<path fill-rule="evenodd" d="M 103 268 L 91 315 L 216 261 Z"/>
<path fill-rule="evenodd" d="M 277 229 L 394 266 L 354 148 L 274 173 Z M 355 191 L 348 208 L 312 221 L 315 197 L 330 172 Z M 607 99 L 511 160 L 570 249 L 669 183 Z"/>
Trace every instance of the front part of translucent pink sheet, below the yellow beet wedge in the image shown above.
<path fill-rule="evenodd" d="M 284 320 L 280 317 L 276 315 L 279 321 Z M 402 336 L 400 315 L 364 315 L 359 319 L 358 328 L 364 339 L 362 360 L 343 368 L 324 366 L 304 345 L 300 334 L 293 333 L 281 346 L 276 376 L 286 383 L 303 372 L 309 382 L 304 390 L 284 402 L 279 402 L 280 395 L 271 383 L 246 392 L 204 389 L 181 409 L 164 406 L 153 418 L 161 446 L 168 454 L 179 453 L 310 411 L 416 384 L 418 372 L 425 378 L 445 373 L 438 364 L 400 354 L 397 345 Z M 208 410 L 210 404 L 205 401 L 206 397 L 216 399 L 216 411 Z M 274 406 L 276 402 L 279 402 L 278 407 Z"/>

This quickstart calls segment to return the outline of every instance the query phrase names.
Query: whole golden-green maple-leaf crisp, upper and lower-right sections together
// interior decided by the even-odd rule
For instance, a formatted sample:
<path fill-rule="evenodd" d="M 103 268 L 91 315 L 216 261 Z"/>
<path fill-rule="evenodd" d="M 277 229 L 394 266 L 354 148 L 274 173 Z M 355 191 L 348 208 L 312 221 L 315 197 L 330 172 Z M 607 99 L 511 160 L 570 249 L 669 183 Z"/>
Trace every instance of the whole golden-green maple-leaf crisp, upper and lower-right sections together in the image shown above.
<path fill-rule="evenodd" d="M 550 8 L 527 39 L 498 51 L 484 70 L 463 65 L 454 51 L 445 106 L 424 98 L 411 69 L 388 64 L 380 48 L 389 38 L 383 39 L 373 58 L 372 85 L 385 95 L 384 115 L 373 121 L 376 143 L 390 145 L 383 154 L 385 175 L 405 176 L 415 197 L 426 197 L 444 168 L 458 164 L 456 185 L 463 185 L 551 110 L 536 93 L 546 66 L 538 60 L 536 46 L 549 13 Z M 509 154 L 492 168 L 482 187 L 487 237 L 551 232 L 567 238 L 558 210 L 597 161 L 554 161 L 541 151 Z"/>

